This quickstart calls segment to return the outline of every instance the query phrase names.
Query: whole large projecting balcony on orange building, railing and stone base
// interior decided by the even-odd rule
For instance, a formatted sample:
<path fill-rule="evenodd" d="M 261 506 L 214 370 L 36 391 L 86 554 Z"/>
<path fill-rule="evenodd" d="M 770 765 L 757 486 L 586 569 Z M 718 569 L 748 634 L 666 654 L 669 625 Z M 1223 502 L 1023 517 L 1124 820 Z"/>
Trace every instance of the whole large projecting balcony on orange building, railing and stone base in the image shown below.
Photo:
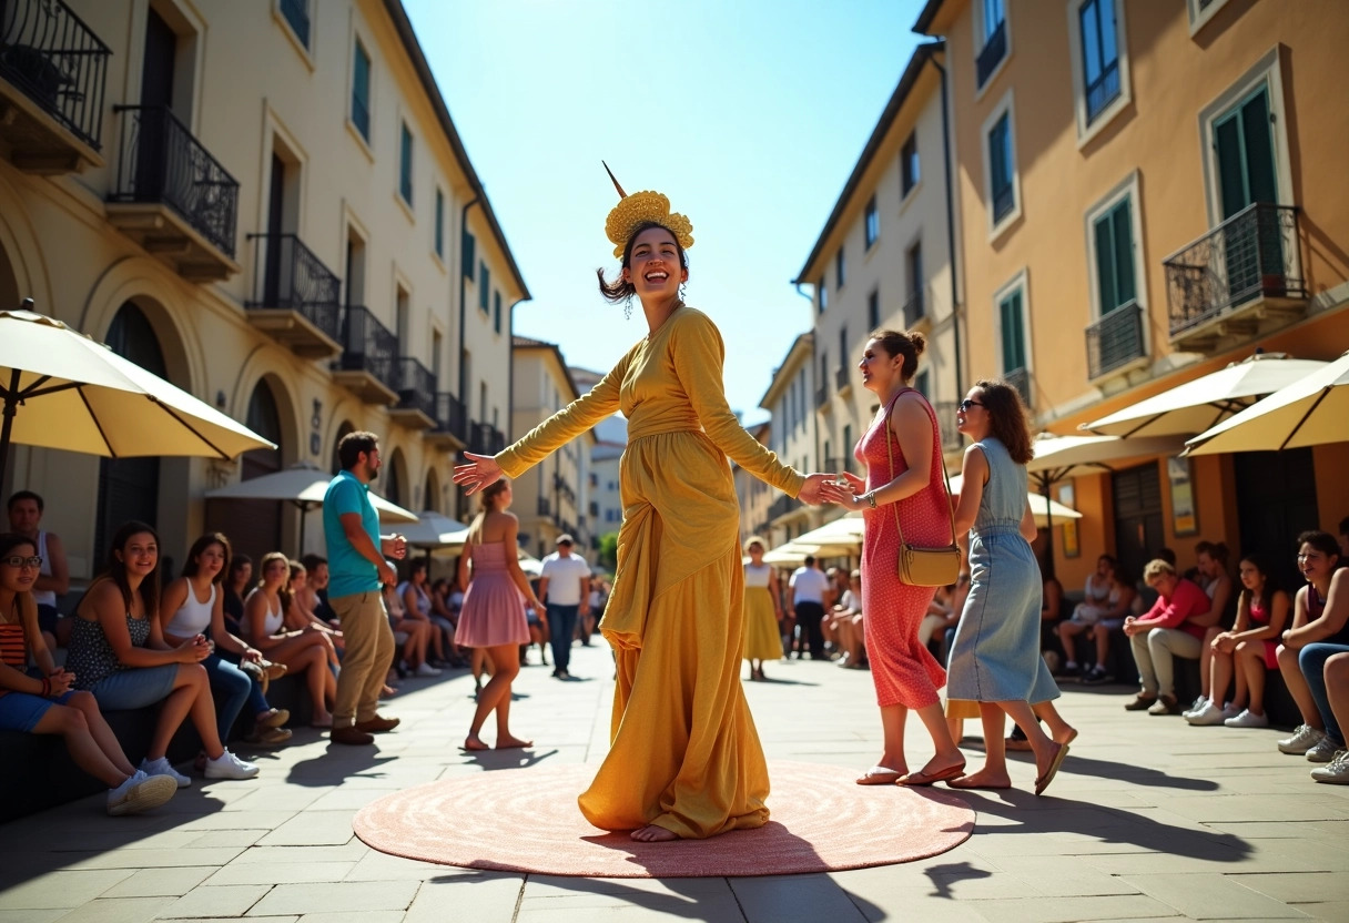
<path fill-rule="evenodd" d="M 1171 343 L 1207 352 L 1300 317 L 1300 246 L 1295 206 L 1255 202 L 1167 256 Z"/>

